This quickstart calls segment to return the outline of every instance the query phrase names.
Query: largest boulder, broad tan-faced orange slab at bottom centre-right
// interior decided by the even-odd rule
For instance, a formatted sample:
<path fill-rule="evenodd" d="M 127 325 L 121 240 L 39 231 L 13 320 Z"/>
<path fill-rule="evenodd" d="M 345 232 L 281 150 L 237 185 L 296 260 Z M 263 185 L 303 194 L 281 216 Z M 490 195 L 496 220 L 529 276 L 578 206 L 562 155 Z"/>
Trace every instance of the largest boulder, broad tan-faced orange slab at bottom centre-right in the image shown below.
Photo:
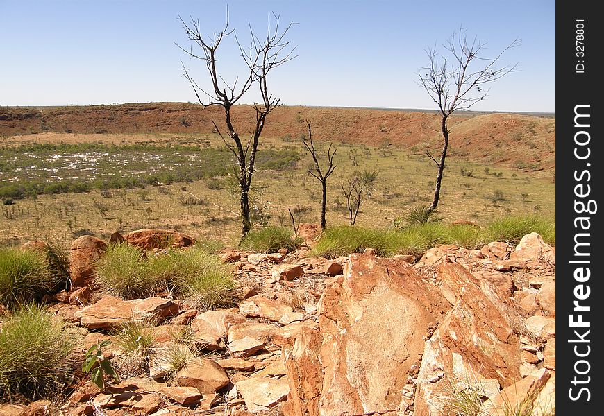
<path fill-rule="evenodd" d="M 411 266 L 351 254 L 344 275 L 319 300 L 319 415 L 395 415 L 410 369 L 421 359 L 423 337 L 448 306 Z"/>

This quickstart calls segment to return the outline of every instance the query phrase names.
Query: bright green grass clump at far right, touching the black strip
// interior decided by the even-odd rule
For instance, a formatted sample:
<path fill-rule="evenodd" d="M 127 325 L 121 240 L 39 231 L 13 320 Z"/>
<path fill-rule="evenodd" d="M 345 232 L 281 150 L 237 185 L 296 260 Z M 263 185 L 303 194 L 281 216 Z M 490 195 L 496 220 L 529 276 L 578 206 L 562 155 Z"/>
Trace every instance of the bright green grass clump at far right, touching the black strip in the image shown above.
<path fill-rule="evenodd" d="M 499 218 L 487 225 L 487 239 L 489 241 L 505 241 L 511 244 L 520 242 L 523 236 L 537 232 L 541 234 L 545 243 L 555 245 L 555 223 L 539 216 L 509 216 Z"/>

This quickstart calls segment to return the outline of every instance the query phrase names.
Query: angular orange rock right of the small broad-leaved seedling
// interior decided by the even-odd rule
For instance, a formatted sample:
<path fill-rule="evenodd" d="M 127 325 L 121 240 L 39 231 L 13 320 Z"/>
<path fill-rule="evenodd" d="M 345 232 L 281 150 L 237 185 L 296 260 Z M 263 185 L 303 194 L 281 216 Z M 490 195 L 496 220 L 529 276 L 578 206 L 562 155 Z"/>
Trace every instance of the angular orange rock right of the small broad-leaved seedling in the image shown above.
<path fill-rule="evenodd" d="M 223 368 L 207 358 L 196 358 L 176 373 L 176 383 L 183 387 L 194 387 L 199 392 L 215 393 L 229 383 Z"/>

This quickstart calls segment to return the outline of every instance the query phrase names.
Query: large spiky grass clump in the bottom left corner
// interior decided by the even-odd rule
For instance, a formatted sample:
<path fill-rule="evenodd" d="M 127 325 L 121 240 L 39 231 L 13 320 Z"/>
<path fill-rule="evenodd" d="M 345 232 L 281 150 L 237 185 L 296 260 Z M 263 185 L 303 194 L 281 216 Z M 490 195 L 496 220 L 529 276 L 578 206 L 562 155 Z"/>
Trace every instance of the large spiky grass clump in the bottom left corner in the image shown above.
<path fill-rule="evenodd" d="M 40 306 L 17 309 L 0 332 L 0 397 L 35 400 L 60 392 L 73 373 L 75 345 L 65 324 Z"/>

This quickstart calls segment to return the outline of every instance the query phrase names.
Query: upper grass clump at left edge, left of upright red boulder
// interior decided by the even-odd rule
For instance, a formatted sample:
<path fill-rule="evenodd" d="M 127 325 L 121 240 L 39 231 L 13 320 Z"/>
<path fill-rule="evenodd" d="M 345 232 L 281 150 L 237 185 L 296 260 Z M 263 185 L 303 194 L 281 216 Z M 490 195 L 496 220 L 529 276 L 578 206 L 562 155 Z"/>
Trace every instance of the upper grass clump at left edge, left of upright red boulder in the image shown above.
<path fill-rule="evenodd" d="M 0 248 L 0 303 L 12 309 L 55 291 L 65 278 L 49 267 L 54 261 L 35 250 Z"/>

